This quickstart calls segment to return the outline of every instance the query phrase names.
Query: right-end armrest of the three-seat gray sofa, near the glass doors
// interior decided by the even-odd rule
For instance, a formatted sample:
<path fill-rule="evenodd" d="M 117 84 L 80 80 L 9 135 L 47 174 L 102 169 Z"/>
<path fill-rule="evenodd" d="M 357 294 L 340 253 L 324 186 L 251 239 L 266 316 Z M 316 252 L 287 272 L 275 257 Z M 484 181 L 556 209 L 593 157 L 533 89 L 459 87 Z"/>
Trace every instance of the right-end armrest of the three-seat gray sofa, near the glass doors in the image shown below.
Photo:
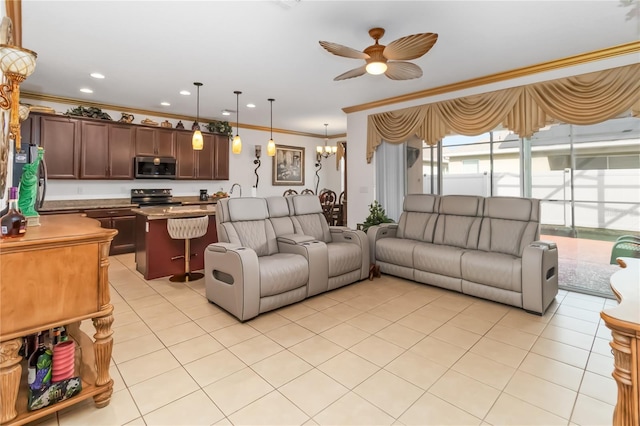
<path fill-rule="evenodd" d="M 544 315 L 558 294 L 558 247 L 534 241 L 522 254 L 522 307 Z"/>

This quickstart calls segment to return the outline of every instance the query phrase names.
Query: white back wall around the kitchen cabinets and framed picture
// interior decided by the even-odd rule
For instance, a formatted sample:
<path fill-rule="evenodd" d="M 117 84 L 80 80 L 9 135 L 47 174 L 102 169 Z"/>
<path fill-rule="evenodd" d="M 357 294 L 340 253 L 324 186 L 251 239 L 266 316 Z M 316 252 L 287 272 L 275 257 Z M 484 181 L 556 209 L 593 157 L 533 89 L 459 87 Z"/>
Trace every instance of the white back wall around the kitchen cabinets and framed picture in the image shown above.
<path fill-rule="evenodd" d="M 69 105 L 54 102 L 45 102 L 32 100 L 28 98 L 22 99 L 23 103 L 34 105 L 44 105 L 55 109 L 56 113 L 63 114 L 68 109 L 77 105 Z M 118 120 L 121 112 L 103 109 L 111 118 Z M 164 117 L 149 116 L 143 117 L 139 114 L 135 115 L 135 123 L 139 123 L 145 118 L 150 118 L 156 122 L 162 122 Z M 169 122 L 175 125 L 178 120 L 170 119 Z M 185 128 L 190 128 L 192 122 L 182 120 Z M 201 123 L 201 126 L 206 124 Z M 273 160 L 266 155 L 266 145 L 269 140 L 269 132 L 259 130 L 248 130 L 240 128 L 240 136 L 242 137 L 242 152 L 240 154 L 229 154 L 229 180 L 228 181 L 192 181 L 192 180 L 168 180 L 168 179 L 135 179 L 135 180 L 59 180 L 50 179 L 47 187 L 47 200 L 80 200 L 80 199 L 106 199 L 106 198 L 129 198 L 132 188 L 171 188 L 174 196 L 196 196 L 199 195 L 200 189 L 207 189 L 209 193 L 213 193 L 222 188 L 229 191 L 233 183 L 239 183 L 242 186 L 242 195 L 250 196 L 251 187 L 255 184 L 255 145 L 262 145 L 262 164 L 258 169 L 260 177 L 257 196 L 268 197 L 272 195 L 282 195 L 289 186 L 273 186 L 272 170 Z M 300 192 L 304 188 L 315 188 L 315 152 L 316 145 L 324 144 L 323 138 L 314 138 L 308 136 L 297 136 L 290 134 L 274 133 L 276 145 L 289 145 L 305 148 L 305 185 L 292 186 Z M 28 141 L 23 140 L 23 143 Z M 329 145 L 335 145 L 335 140 L 329 140 Z M 323 167 L 319 173 L 319 188 L 329 188 L 336 193 L 340 192 L 340 172 L 335 168 L 335 157 L 323 160 Z M 233 196 L 239 196 L 238 191 L 234 191 Z"/>

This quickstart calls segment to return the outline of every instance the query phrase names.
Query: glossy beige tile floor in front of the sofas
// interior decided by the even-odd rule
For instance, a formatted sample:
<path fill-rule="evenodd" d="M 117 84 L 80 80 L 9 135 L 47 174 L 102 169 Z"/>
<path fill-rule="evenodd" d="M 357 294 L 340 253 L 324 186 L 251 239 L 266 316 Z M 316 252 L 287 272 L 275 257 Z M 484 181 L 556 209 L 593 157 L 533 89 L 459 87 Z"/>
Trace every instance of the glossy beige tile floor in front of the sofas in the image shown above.
<path fill-rule="evenodd" d="M 109 406 L 46 425 L 609 425 L 614 300 L 561 291 L 535 316 L 383 276 L 240 323 L 204 280 L 110 258 Z M 90 323 L 83 329 L 93 333 Z"/>

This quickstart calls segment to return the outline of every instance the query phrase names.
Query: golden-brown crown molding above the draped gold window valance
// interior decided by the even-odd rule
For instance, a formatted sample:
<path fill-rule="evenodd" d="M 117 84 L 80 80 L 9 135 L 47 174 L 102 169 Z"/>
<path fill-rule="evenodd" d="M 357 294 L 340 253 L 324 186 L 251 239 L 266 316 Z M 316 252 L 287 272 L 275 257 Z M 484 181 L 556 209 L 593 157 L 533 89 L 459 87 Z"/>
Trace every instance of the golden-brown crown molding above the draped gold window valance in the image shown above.
<path fill-rule="evenodd" d="M 557 59 L 549 62 L 531 65 L 522 68 L 516 68 L 509 71 L 489 74 L 484 77 L 473 78 L 471 80 L 459 81 L 457 83 L 446 84 L 444 86 L 425 89 L 419 92 L 407 93 L 405 95 L 394 96 L 392 98 L 380 99 L 378 101 L 368 102 L 366 104 L 354 105 L 342 108 L 347 114 L 368 109 L 379 108 L 387 105 L 397 104 L 400 102 L 412 101 L 415 99 L 426 98 L 443 93 L 455 92 L 457 90 L 469 89 L 471 87 L 483 86 L 486 84 L 497 83 L 500 81 L 513 80 L 519 77 L 526 77 L 541 72 L 552 71 L 559 68 L 567 68 L 575 65 L 581 65 L 589 62 L 601 61 L 603 59 L 613 58 L 616 56 L 624 56 L 640 52 L 640 41 L 633 41 L 618 46 L 609 47 L 601 50 L 594 50 L 588 53 L 569 56 L 563 59 Z"/>

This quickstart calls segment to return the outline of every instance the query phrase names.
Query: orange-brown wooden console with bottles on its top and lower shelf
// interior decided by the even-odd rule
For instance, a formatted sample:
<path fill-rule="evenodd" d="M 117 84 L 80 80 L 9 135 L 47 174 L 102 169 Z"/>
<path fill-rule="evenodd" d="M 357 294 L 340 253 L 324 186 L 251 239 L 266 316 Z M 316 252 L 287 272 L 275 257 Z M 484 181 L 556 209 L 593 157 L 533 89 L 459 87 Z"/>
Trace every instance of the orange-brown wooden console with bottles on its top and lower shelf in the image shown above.
<path fill-rule="evenodd" d="M 0 424 L 20 425 L 93 397 L 109 404 L 113 380 L 113 306 L 109 295 L 109 246 L 117 231 L 80 214 L 40 218 L 24 237 L 0 241 Z M 91 318 L 95 342 L 80 331 Z M 81 350 L 75 373 L 82 392 L 27 411 L 28 386 L 18 355 L 22 337 L 66 326 Z M 77 351 L 78 352 L 78 351 Z M 78 365 L 79 364 L 79 365 Z"/>

